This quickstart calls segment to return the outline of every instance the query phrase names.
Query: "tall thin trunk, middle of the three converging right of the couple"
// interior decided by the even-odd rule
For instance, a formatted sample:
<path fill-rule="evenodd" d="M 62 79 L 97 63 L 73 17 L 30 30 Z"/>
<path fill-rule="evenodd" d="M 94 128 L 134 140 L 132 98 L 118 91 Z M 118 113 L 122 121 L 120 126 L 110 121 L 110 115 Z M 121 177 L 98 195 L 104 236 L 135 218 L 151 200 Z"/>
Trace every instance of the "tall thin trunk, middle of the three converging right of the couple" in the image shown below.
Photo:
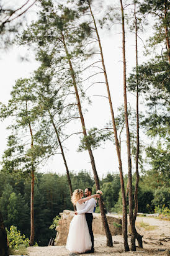
<path fill-rule="evenodd" d="M 125 111 L 125 125 L 127 134 L 127 156 L 128 156 L 128 202 L 129 202 L 129 220 L 132 229 L 131 249 L 136 250 L 135 234 L 133 232 L 133 199 L 132 199 L 132 162 L 130 154 L 130 132 L 128 127 L 128 109 L 127 109 L 127 78 L 126 78 L 126 58 L 125 58 L 125 19 L 123 3 L 120 0 L 122 12 L 122 49 L 123 49 L 123 98 Z"/>

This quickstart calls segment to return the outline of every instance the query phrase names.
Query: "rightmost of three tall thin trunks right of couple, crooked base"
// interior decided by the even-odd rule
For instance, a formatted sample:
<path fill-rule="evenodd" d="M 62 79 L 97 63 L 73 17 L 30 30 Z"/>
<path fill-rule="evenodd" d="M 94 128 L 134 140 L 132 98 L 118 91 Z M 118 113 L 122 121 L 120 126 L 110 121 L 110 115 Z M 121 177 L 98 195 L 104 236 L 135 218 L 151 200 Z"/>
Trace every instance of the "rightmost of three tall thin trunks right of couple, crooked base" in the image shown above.
<path fill-rule="evenodd" d="M 138 158 L 140 150 L 140 137 L 139 137 L 139 110 L 138 110 L 138 24 L 136 19 L 136 3 L 135 3 L 135 47 L 136 47 L 136 183 L 135 183 L 135 209 L 133 214 L 133 232 L 135 232 L 135 238 L 138 240 L 138 245 L 142 248 L 142 236 L 138 234 L 135 228 L 135 221 L 138 212 L 138 183 L 139 183 L 139 171 L 138 171 Z"/>

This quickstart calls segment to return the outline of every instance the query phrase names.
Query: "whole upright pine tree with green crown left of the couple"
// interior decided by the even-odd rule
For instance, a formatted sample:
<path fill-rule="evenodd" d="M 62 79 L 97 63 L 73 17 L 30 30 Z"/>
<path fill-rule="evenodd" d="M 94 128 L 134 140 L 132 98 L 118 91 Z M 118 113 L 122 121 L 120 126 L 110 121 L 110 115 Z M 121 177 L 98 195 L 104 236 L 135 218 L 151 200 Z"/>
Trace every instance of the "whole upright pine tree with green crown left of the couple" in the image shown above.
<path fill-rule="evenodd" d="M 31 178 L 30 197 L 30 245 L 34 244 L 34 181 L 35 169 L 40 158 L 50 152 L 45 144 L 36 144 L 35 121 L 37 116 L 32 112 L 35 104 L 33 86 L 29 80 L 17 80 L 11 92 L 11 100 L 7 106 L 1 106 L 1 119 L 14 116 L 14 124 L 9 126 L 12 135 L 9 135 L 7 146 L 3 155 L 2 169 L 7 172 L 22 174 Z M 34 130 L 33 130 L 34 129 Z M 25 139 L 26 138 L 26 139 Z M 44 138 L 45 140 L 45 138 Z"/>

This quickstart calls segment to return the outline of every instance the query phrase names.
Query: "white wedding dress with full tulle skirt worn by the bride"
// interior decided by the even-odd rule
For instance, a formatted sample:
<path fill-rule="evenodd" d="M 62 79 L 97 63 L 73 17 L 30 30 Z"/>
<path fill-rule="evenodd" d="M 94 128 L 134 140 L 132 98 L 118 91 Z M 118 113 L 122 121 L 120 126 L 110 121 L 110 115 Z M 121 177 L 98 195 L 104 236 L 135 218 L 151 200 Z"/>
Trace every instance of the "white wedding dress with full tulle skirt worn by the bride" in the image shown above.
<path fill-rule="evenodd" d="M 84 209 L 85 204 L 76 203 L 78 211 Z M 69 233 L 66 242 L 69 252 L 81 254 L 91 250 L 91 236 L 86 222 L 85 214 L 75 215 L 69 224 Z"/>

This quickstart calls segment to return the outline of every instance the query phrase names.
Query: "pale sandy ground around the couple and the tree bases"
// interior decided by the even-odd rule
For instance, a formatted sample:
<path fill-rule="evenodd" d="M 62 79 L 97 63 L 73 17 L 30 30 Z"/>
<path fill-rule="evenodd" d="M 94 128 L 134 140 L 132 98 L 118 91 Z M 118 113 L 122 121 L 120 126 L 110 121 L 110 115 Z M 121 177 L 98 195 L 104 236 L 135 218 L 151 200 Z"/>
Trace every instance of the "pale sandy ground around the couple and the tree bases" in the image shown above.
<path fill-rule="evenodd" d="M 123 252 L 123 237 L 122 235 L 115 235 L 112 237 L 114 247 L 107 247 L 106 238 L 104 235 L 94 236 L 94 254 L 85 255 L 170 255 L 170 222 L 151 217 L 137 217 L 137 222 L 144 222 L 154 226 L 153 230 L 146 231 L 140 227 L 138 231 L 143 235 L 143 249 L 136 247 L 136 252 Z M 129 237 L 130 245 L 130 237 Z M 30 256 L 68 256 L 69 252 L 65 246 L 49 246 L 49 247 L 29 247 Z"/>

